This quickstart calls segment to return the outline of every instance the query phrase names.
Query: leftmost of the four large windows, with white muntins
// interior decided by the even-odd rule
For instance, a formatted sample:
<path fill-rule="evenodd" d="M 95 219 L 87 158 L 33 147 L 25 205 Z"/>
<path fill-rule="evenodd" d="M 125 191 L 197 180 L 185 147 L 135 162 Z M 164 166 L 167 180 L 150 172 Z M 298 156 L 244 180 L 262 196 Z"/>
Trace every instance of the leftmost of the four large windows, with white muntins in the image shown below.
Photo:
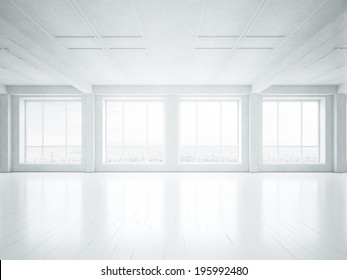
<path fill-rule="evenodd" d="M 81 102 L 22 100 L 21 163 L 81 163 Z"/>

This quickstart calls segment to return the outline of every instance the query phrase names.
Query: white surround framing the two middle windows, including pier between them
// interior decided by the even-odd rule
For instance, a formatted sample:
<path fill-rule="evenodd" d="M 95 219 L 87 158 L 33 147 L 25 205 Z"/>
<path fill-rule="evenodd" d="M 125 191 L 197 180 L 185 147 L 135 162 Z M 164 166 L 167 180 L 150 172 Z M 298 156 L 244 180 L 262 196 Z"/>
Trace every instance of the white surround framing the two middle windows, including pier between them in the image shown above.
<path fill-rule="evenodd" d="M 242 163 L 241 164 L 179 164 L 178 145 L 179 145 L 179 100 L 181 98 L 199 99 L 233 99 L 240 100 L 241 108 L 241 141 L 242 141 Z M 131 164 L 104 164 L 102 158 L 102 127 L 103 127 L 103 100 L 162 100 L 164 102 L 164 133 L 165 133 L 165 163 L 131 163 Z M 249 137 L 248 137 L 248 109 L 249 96 L 246 94 L 194 94 L 194 93 L 146 93 L 144 94 L 122 94 L 117 92 L 104 92 L 95 95 L 95 171 L 96 172 L 247 172 L 249 163 Z"/>

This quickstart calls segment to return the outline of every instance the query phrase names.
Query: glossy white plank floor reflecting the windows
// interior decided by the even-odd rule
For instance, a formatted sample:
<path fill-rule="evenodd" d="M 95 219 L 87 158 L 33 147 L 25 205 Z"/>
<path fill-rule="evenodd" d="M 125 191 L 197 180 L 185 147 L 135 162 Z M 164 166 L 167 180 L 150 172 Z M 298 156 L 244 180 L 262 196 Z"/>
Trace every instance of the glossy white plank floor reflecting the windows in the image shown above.
<path fill-rule="evenodd" d="M 0 259 L 347 259 L 347 174 L 0 174 Z"/>

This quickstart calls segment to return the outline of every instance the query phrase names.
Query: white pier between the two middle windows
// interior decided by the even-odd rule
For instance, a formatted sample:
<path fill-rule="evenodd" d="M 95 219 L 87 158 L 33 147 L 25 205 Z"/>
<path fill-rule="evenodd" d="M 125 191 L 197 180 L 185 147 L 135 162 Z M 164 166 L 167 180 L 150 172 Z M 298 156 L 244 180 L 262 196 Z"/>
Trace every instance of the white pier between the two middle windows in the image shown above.
<path fill-rule="evenodd" d="M 166 98 L 166 166 L 169 170 L 178 168 L 178 97 Z"/>

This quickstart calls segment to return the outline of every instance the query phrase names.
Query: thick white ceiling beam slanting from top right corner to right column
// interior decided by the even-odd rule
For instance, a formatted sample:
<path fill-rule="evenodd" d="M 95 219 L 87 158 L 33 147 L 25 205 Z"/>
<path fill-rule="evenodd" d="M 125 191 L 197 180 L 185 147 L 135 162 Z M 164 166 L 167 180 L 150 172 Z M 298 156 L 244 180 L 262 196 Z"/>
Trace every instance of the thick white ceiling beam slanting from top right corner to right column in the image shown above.
<path fill-rule="evenodd" d="M 330 48 L 332 34 L 344 32 L 347 25 L 347 2 L 344 0 L 323 1 L 273 52 L 273 58 L 260 63 L 259 75 L 252 86 L 253 93 L 260 93 L 275 84 L 276 80 L 300 60 L 317 55 Z M 318 19 L 320 21 L 318 22 Z M 315 34 L 315 35 L 311 35 Z M 310 36 L 311 35 L 311 36 Z M 344 37 L 344 36 L 342 36 Z M 306 39 L 309 38 L 309 39 Z M 324 45 L 323 45 L 324 44 Z"/>

